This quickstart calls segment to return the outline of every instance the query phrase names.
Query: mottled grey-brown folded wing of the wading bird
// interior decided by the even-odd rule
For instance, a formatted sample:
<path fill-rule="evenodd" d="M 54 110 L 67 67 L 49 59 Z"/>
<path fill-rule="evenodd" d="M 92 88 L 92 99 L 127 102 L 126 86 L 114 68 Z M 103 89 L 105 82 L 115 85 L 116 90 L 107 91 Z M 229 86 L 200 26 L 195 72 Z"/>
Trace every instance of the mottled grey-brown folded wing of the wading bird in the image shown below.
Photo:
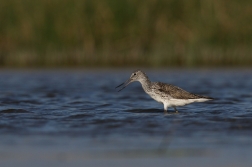
<path fill-rule="evenodd" d="M 189 93 L 177 86 L 165 84 L 161 82 L 156 82 L 155 85 L 160 92 L 164 92 L 175 99 L 198 99 L 198 98 L 207 98 L 212 99 L 207 96 L 196 95 L 193 93 Z"/>

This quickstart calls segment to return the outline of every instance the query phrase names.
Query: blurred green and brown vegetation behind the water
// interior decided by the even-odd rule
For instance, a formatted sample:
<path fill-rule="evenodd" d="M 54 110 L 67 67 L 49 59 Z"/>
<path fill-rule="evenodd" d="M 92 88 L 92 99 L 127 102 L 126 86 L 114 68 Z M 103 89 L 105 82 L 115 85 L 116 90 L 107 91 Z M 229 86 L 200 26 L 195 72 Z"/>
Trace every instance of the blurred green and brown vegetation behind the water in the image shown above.
<path fill-rule="evenodd" d="M 0 0 L 0 66 L 249 66 L 251 0 Z"/>

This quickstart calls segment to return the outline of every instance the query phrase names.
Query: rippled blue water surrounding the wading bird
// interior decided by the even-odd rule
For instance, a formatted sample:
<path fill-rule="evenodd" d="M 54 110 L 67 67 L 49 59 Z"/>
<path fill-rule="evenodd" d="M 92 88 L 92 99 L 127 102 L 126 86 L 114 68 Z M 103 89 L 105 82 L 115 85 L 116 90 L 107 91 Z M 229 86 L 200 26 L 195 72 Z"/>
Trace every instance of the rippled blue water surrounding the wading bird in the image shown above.
<path fill-rule="evenodd" d="M 251 163 L 251 69 L 145 70 L 153 81 L 215 98 L 167 114 L 140 83 L 115 90 L 131 72 L 0 71 L 0 163 L 110 166 L 122 158 L 134 165 L 133 158 L 140 166 L 181 159 L 202 166 L 213 157 L 215 166 Z"/>

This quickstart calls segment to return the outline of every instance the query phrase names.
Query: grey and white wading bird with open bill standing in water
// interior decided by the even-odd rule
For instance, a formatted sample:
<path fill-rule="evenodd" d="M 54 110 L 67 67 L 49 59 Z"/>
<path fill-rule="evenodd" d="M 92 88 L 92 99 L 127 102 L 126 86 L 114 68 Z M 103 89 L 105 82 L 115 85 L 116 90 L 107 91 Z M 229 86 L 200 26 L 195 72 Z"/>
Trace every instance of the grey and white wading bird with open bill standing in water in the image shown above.
<path fill-rule="evenodd" d="M 189 93 L 171 84 L 151 82 L 148 76 L 140 70 L 133 72 L 126 82 L 118 85 L 116 88 L 120 88 L 122 86 L 118 92 L 134 81 L 139 81 L 144 91 L 150 95 L 150 97 L 159 103 L 163 103 L 165 112 L 167 112 L 168 107 L 173 107 L 175 112 L 178 112 L 176 108 L 177 106 L 213 100 L 211 97 Z"/>

